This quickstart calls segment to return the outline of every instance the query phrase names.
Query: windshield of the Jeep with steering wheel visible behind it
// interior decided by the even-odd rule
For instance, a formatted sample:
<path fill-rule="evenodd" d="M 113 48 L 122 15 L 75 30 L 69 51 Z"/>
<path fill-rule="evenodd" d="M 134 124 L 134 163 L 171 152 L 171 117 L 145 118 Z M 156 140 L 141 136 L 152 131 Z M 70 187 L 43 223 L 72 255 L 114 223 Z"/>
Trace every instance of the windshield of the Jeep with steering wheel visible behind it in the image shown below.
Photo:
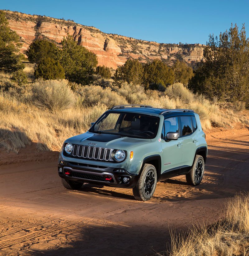
<path fill-rule="evenodd" d="M 107 112 L 90 129 L 90 132 L 153 139 L 157 135 L 159 118 L 137 113 Z"/>

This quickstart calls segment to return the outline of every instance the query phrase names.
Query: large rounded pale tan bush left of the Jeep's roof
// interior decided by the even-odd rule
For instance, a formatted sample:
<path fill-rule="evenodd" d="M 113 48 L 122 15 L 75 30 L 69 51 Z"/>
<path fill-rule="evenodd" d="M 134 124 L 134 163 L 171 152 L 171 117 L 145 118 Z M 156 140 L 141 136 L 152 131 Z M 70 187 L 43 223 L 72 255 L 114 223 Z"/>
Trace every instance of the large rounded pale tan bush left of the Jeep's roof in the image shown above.
<path fill-rule="evenodd" d="M 31 102 L 36 107 L 50 111 L 71 108 L 75 103 L 75 95 L 68 86 L 67 80 L 37 80 L 32 87 Z"/>

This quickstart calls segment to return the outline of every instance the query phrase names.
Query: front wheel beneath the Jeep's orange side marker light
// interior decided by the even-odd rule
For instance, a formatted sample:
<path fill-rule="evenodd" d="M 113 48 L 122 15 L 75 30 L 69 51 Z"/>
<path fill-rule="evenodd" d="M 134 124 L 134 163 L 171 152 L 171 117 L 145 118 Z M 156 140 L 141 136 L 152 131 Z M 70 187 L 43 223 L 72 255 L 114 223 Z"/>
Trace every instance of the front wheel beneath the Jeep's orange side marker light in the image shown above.
<path fill-rule="evenodd" d="M 146 186 L 147 185 L 147 186 Z M 152 164 L 145 164 L 138 183 L 133 188 L 136 200 L 147 201 L 153 196 L 157 186 L 157 171 Z"/>

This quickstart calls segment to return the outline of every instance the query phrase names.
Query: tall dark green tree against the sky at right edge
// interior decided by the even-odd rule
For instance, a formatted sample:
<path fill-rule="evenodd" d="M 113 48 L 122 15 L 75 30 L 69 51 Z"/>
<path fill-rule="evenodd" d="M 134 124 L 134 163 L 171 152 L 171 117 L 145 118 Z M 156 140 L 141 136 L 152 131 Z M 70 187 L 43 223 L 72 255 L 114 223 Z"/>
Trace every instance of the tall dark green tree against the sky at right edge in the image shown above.
<path fill-rule="evenodd" d="M 249 38 L 245 26 L 237 25 L 220 33 L 219 39 L 209 36 L 201 62 L 188 87 L 219 101 L 246 102 L 249 107 Z"/>

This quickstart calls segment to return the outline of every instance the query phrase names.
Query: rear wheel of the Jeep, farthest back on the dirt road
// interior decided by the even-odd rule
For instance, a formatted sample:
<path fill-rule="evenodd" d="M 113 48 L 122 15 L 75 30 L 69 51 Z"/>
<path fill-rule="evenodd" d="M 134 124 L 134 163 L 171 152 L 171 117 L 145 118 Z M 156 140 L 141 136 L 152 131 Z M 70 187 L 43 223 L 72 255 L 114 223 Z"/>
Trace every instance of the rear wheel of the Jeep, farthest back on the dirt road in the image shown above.
<path fill-rule="evenodd" d="M 205 163 L 201 155 L 196 155 L 193 167 L 190 172 L 186 174 L 186 181 L 188 185 L 197 186 L 201 183 L 204 175 Z"/>

